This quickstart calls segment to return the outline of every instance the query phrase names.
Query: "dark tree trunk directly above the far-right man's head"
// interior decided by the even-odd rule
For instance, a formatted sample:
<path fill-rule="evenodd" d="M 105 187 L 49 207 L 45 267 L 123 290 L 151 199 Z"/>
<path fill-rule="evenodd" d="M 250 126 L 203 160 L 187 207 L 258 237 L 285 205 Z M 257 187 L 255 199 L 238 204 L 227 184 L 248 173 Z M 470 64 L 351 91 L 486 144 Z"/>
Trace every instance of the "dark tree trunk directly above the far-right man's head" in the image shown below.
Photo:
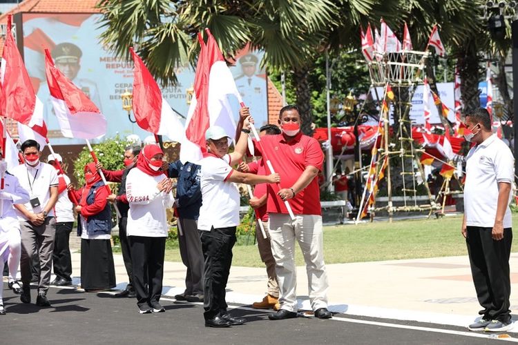
<path fill-rule="evenodd" d="M 457 61 L 461 76 L 461 99 L 464 103 L 463 113 L 467 114 L 476 108 L 480 108 L 480 57 L 477 52 L 477 44 L 470 41 L 466 42 L 460 48 Z"/>

